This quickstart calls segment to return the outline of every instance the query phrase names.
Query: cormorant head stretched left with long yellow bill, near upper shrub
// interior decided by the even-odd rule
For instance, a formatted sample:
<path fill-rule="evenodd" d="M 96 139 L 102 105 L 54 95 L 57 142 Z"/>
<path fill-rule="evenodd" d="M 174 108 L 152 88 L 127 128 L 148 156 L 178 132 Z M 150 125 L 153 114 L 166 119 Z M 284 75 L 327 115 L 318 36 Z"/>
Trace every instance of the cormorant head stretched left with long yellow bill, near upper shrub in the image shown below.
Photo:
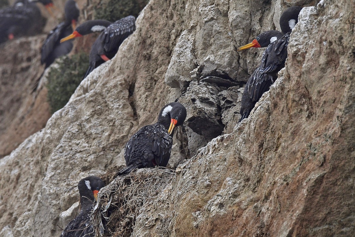
<path fill-rule="evenodd" d="M 64 41 L 67 41 L 69 39 L 84 36 L 86 34 L 104 31 L 104 29 L 106 29 L 109 25 L 111 25 L 111 22 L 106 20 L 86 21 L 80 26 L 78 26 L 72 34 L 65 38 L 62 38 L 60 40 L 60 43 L 63 43 Z"/>

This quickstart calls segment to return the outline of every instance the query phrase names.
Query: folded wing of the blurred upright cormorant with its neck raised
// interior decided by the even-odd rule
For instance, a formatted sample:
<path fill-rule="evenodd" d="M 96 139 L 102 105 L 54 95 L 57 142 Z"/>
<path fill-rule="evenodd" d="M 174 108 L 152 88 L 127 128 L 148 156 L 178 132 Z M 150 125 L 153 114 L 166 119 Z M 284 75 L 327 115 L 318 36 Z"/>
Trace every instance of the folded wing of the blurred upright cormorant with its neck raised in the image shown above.
<path fill-rule="evenodd" d="M 62 22 L 58 24 L 53 30 L 51 30 L 42 44 L 42 52 L 41 52 L 41 63 L 44 64 L 48 55 L 53 52 L 55 44 L 60 40 L 61 33 L 67 27 L 67 23 Z M 70 50 L 69 50 L 70 51 Z"/>

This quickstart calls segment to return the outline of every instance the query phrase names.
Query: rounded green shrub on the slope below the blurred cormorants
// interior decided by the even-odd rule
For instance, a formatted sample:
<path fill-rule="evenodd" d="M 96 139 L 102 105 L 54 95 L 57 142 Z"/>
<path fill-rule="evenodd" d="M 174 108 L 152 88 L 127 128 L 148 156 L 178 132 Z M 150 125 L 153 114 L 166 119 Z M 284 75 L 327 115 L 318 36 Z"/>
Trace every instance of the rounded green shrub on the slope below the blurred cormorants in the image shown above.
<path fill-rule="evenodd" d="M 50 69 L 47 84 L 47 99 L 52 114 L 66 105 L 83 80 L 88 69 L 89 56 L 86 53 L 79 53 L 71 57 L 63 56 L 57 62 L 59 66 Z"/>

